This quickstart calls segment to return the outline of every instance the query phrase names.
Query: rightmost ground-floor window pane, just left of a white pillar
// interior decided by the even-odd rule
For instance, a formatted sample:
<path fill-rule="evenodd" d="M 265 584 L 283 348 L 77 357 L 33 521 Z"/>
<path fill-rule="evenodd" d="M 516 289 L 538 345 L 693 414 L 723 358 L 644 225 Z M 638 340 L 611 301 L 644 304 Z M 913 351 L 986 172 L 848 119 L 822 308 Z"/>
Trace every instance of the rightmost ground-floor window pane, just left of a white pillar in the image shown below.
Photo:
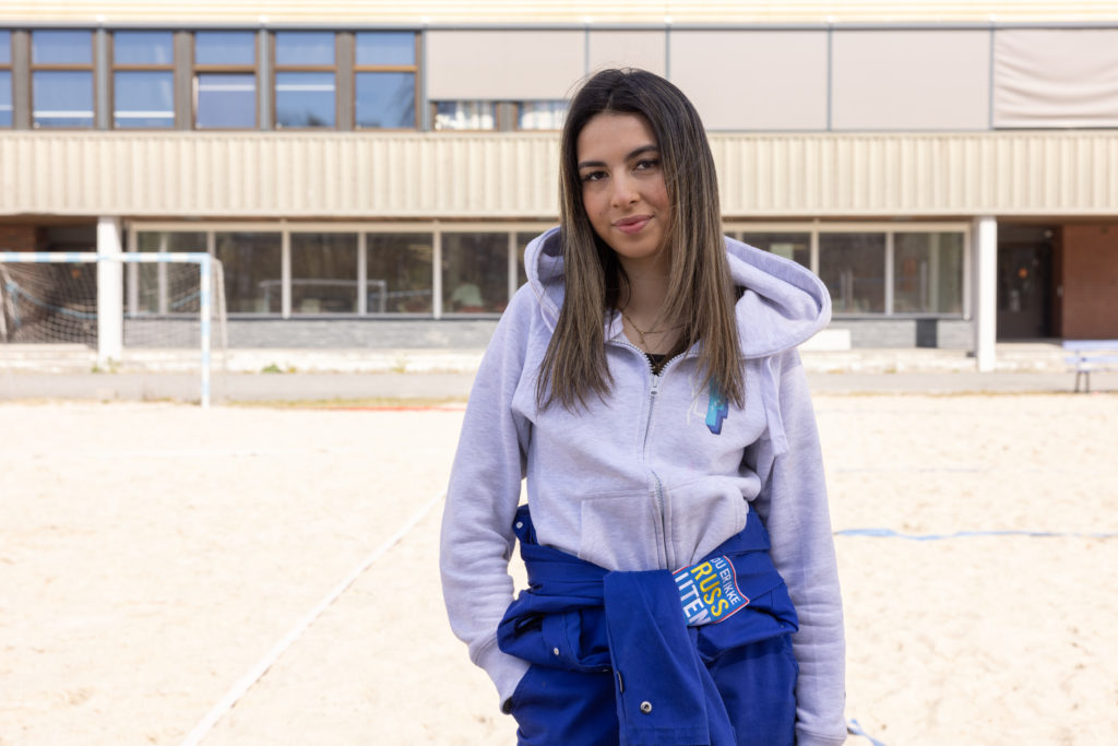
<path fill-rule="evenodd" d="M 963 234 L 894 234 L 893 311 L 963 313 Z"/>

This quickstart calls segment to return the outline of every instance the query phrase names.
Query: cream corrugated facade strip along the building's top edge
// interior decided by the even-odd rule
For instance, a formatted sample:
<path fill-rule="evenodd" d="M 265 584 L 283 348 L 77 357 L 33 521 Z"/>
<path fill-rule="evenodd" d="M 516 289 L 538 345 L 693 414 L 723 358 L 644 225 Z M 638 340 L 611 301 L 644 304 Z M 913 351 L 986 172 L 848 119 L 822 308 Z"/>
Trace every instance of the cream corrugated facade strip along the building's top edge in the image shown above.
<path fill-rule="evenodd" d="M 348 0 L 310 3 L 305 0 L 67 0 L 34 2 L 7 0 L 0 19 L 34 19 L 61 22 L 165 21 L 256 23 L 821 23 L 879 21 L 1006 21 L 1114 20 L 1114 2 L 1052 2 L 1051 0 L 994 0 L 987 2 L 919 2 L 877 0 L 868 2 L 818 2 L 816 0 L 612 0 L 607 2 L 556 2 L 523 0 L 435 0 L 394 2 Z"/>

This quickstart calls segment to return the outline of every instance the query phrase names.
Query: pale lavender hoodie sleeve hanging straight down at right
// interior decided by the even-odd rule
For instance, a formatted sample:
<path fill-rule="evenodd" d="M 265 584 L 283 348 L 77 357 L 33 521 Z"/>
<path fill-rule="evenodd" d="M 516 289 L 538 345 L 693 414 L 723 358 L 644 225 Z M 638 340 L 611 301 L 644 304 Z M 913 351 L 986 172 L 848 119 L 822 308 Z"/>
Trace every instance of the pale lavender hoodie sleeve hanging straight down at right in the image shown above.
<path fill-rule="evenodd" d="M 799 616 L 796 743 L 833 746 L 846 739 L 845 641 L 815 410 L 795 349 L 766 362 L 769 432 L 746 454 L 765 485 L 754 508 Z"/>

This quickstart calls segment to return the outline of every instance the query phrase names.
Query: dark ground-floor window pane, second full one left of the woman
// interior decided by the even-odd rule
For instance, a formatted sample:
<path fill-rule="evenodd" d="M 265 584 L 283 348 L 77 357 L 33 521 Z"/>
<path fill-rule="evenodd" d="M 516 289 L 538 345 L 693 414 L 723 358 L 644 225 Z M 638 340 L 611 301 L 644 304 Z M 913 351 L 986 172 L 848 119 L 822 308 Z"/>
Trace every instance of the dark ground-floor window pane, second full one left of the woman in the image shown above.
<path fill-rule="evenodd" d="M 432 313 L 433 247 L 430 234 L 368 234 L 369 313 Z"/>

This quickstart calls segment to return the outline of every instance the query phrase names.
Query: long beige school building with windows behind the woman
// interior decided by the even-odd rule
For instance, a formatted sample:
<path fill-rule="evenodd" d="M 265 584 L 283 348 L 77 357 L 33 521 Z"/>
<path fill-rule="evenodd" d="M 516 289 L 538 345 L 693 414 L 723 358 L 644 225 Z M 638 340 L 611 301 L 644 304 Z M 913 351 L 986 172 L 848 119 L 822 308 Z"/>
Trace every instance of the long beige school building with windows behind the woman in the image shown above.
<path fill-rule="evenodd" d="M 604 66 L 854 347 L 1118 337 L 1111 2 L 8 0 L 0 251 L 209 252 L 234 348 L 479 347 Z"/>

